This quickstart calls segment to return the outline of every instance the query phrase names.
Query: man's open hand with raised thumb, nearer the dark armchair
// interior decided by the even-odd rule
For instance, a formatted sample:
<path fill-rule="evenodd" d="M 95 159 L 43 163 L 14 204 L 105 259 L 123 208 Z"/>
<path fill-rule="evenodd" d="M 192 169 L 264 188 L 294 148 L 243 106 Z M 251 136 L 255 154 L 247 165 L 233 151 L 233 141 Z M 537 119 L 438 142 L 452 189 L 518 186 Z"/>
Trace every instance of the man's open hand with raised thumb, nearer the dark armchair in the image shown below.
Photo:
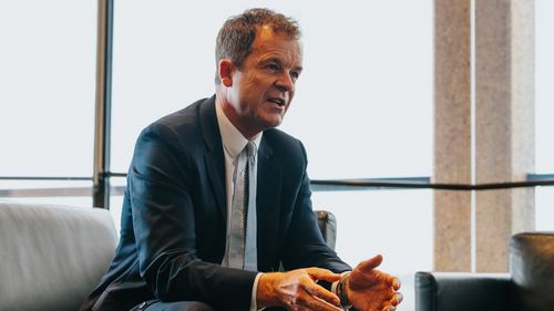
<path fill-rule="evenodd" d="M 346 280 L 348 299 L 358 311 L 393 311 L 402 301 L 400 280 L 376 269 L 381 261 L 378 255 L 360 262 Z"/>

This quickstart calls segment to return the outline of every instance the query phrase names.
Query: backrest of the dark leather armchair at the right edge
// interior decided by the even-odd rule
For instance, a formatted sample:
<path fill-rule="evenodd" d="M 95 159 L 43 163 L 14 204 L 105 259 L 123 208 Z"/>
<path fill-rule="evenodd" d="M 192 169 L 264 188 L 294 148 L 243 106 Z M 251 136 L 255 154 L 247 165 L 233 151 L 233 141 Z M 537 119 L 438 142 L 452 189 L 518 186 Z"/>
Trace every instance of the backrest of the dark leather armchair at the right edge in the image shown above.
<path fill-rule="evenodd" d="M 510 271 L 519 310 L 554 305 L 554 232 L 517 234 L 510 242 Z"/>

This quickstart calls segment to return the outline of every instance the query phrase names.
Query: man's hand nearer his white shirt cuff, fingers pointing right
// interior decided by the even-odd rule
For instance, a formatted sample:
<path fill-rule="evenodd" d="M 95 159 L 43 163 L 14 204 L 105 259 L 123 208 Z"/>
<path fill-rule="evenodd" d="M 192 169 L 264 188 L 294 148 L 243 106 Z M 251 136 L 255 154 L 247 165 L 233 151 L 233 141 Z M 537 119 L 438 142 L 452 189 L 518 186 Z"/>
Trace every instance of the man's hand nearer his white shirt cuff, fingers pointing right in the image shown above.
<path fill-rule="evenodd" d="M 335 282 L 339 279 L 340 274 L 320 268 L 265 273 L 258 280 L 257 305 L 280 305 L 287 310 L 342 311 L 339 298 L 316 283 L 318 280 Z"/>

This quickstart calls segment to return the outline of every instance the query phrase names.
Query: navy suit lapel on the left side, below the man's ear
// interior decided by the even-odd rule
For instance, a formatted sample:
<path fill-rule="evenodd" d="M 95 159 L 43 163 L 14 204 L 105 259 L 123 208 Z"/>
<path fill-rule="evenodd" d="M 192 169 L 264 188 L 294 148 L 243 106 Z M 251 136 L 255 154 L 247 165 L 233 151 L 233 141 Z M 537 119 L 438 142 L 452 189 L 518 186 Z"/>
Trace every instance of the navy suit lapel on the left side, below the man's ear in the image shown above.
<path fill-rule="evenodd" d="M 202 135 L 207 146 L 207 153 L 204 156 L 206 170 L 212 189 L 215 194 L 219 215 L 223 217 L 223 224 L 227 225 L 227 208 L 225 195 L 225 156 L 223 154 L 222 136 L 217 125 L 215 113 L 215 95 L 206 100 L 199 106 Z M 225 228 L 225 230 L 227 230 Z"/>

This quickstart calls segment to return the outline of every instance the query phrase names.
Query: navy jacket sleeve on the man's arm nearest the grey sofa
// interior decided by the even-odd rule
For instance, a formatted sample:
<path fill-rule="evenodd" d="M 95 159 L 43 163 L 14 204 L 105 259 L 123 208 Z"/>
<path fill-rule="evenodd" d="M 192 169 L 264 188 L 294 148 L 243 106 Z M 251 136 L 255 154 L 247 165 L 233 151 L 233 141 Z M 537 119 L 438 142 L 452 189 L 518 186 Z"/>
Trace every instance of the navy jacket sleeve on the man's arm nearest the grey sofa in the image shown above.
<path fill-rule="evenodd" d="M 155 124 L 135 146 L 129 185 L 141 277 L 162 301 L 204 301 L 247 310 L 256 272 L 197 258 L 195 199 L 198 168 L 172 128 Z M 196 159 L 198 160 L 198 159 Z"/>

